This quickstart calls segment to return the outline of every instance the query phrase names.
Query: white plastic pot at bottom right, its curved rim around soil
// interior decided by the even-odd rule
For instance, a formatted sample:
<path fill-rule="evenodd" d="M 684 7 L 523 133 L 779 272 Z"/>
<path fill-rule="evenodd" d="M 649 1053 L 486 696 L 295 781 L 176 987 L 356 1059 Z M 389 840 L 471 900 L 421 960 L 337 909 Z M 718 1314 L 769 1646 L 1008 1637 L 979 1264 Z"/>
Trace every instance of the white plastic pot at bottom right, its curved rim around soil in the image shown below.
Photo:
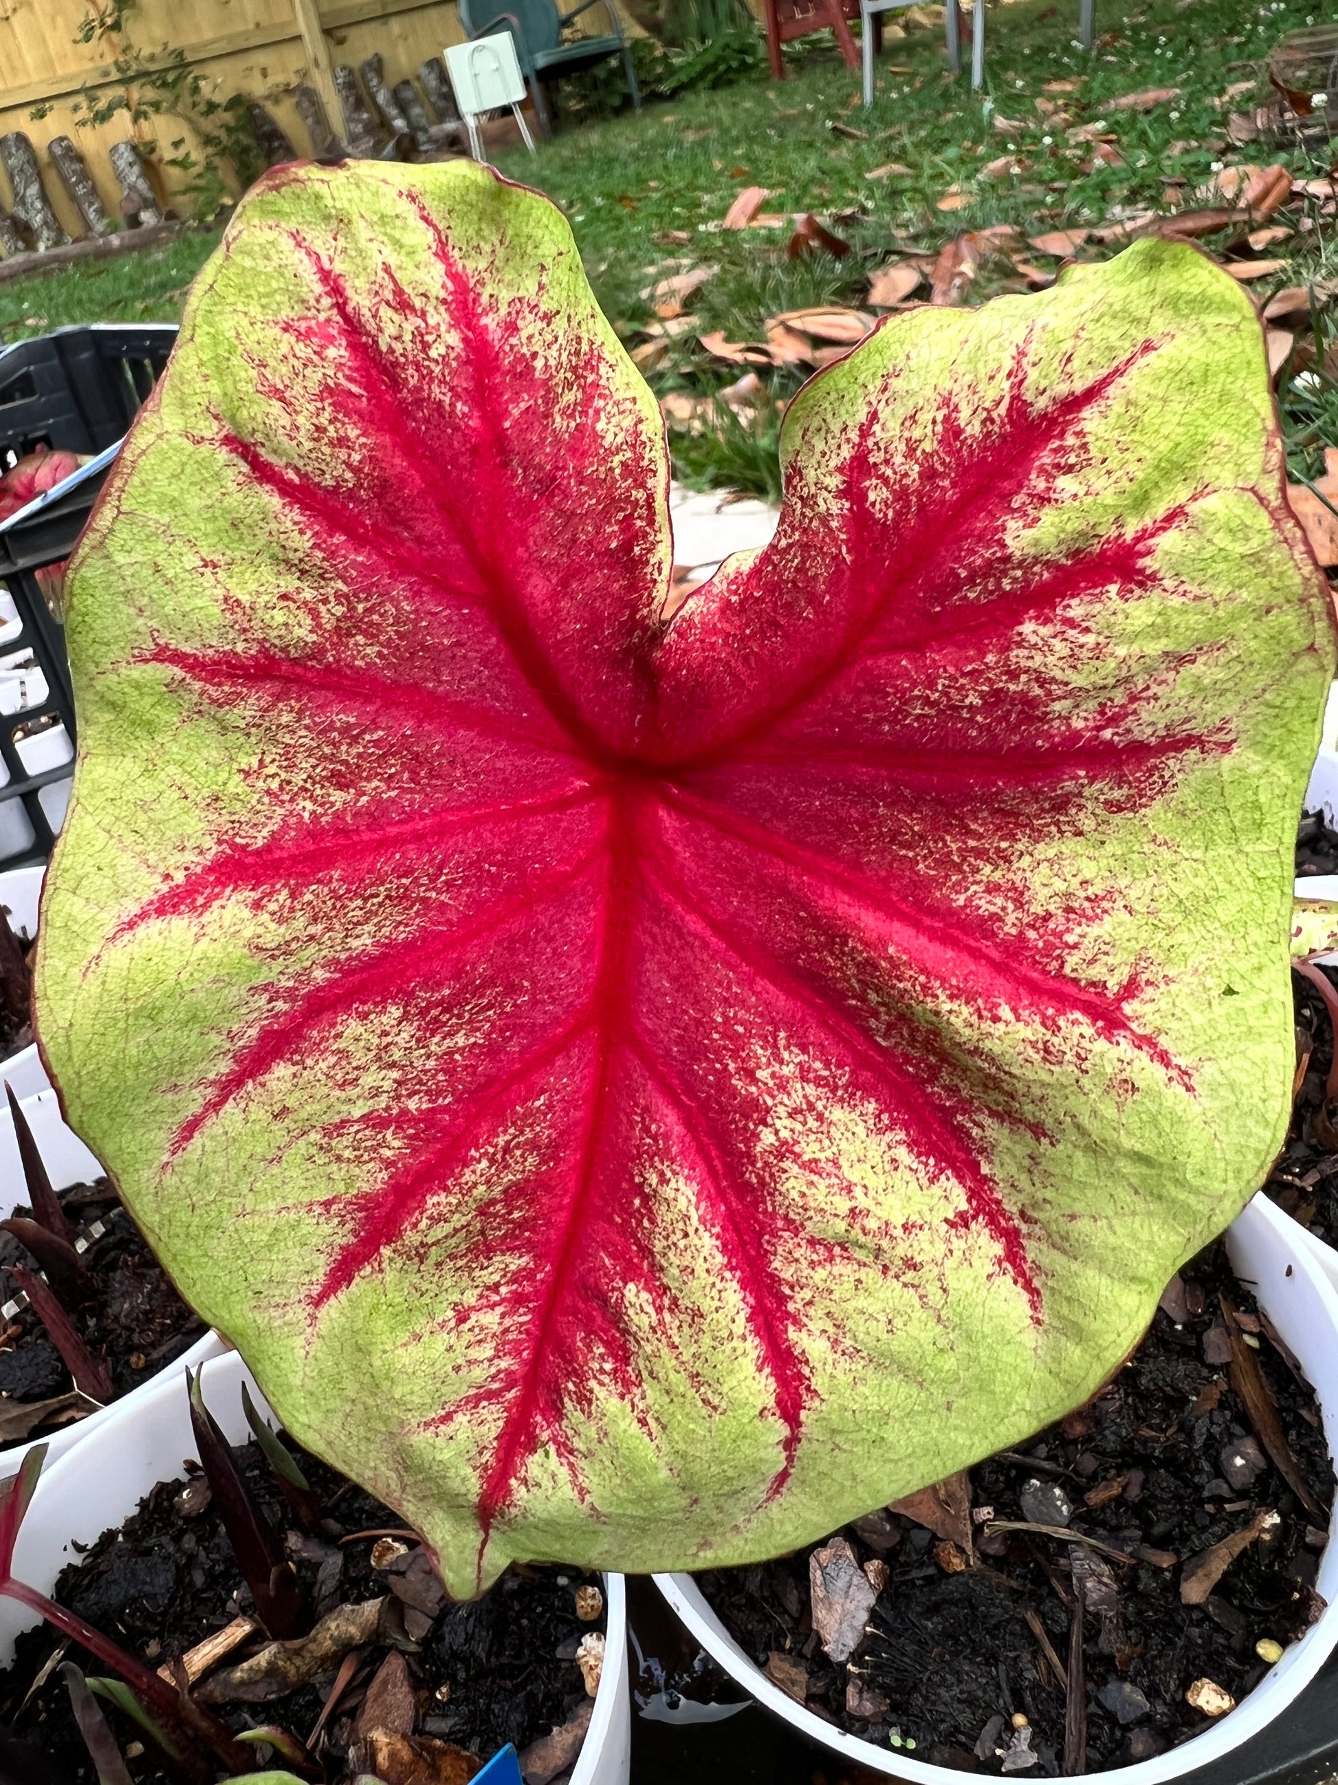
<path fill-rule="evenodd" d="M 1251 1287 L 1260 1307 L 1268 1312 L 1268 1319 L 1304 1366 L 1324 1416 L 1324 1432 L 1333 1455 L 1338 1451 L 1338 1255 L 1331 1255 L 1333 1262 L 1320 1262 L 1317 1258 L 1318 1242 L 1276 1208 L 1267 1196 L 1256 1196 L 1235 1221 L 1227 1233 L 1227 1251 L 1236 1276 Z M 753 1665 L 712 1612 L 690 1574 L 657 1574 L 655 1583 L 703 1649 L 760 1705 L 765 1705 L 790 1728 L 803 1731 L 812 1742 L 833 1749 L 872 1773 L 887 1773 L 910 1780 L 913 1785 L 979 1785 L 979 1774 L 910 1760 L 904 1751 L 874 1748 L 872 1742 L 833 1728 L 812 1710 L 797 1705 Z M 1320 1557 L 1317 1589 L 1329 1601 L 1327 1610 L 1301 1642 L 1293 1642 L 1286 1649 L 1281 1662 L 1268 1671 L 1249 1698 L 1242 1699 L 1231 1715 L 1154 1760 L 1088 1773 L 1086 1778 L 1106 1780 L 1110 1785 L 1115 1781 L 1119 1785 L 1160 1785 L 1161 1780 L 1179 1778 L 1195 1767 L 1208 1765 L 1208 1762 L 1222 1760 L 1231 1749 L 1258 1735 L 1309 1685 L 1338 1640 L 1338 1603 L 1334 1603 L 1338 1601 L 1338 1546 L 1333 1542 Z"/>

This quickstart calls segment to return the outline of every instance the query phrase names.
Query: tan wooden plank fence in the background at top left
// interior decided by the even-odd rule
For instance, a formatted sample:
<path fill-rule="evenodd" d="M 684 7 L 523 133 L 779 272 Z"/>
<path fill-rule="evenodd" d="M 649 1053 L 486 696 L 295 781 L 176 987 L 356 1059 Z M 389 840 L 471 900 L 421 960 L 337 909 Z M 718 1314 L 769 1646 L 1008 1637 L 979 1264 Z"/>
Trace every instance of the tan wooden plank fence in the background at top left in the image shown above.
<path fill-rule="evenodd" d="M 168 162 L 186 148 L 200 152 L 189 107 L 186 116 L 159 112 L 132 121 L 118 109 L 105 123 L 86 121 L 89 102 L 105 107 L 120 95 L 130 105 L 153 100 L 152 87 L 112 66 L 127 50 L 150 62 L 182 50 L 207 96 L 221 102 L 241 93 L 262 102 L 296 150 L 312 154 L 294 102 L 300 84 L 321 95 L 330 123 L 343 130 L 337 64 L 357 68 L 380 54 L 394 86 L 464 36 L 453 0 L 136 0 L 123 9 L 120 30 L 96 29 L 96 9 L 103 23 L 114 18 L 114 0 L 112 7 L 107 0 L 0 0 L 0 136 L 21 130 L 32 139 L 46 195 L 70 236 L 86 234 L 86 227 L 50 162 L 52 139 L 73 139 L 111 218 L 121 207 L 109 162 L 114 143 L 136 137 L 166 202 L 189 180 Z"/>

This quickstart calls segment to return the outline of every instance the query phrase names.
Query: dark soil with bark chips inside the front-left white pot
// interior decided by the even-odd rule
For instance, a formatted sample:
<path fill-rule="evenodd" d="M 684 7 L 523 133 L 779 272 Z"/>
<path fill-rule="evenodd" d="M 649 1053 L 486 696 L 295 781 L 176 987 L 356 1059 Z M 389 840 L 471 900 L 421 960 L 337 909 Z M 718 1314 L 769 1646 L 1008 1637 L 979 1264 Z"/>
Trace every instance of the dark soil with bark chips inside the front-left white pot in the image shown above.
<path fill-rule="evenodd" d="M 412 1608 L 416 1598 L 421 1603 L 421 1580 L 416 1582 L 412 1571 L 405 1573 L 405 1560 L 416 1553 L 416 1544 L 392 1540 L 375 1548 L 373 1537 L 355 1535 L 398 1530 L 401 1521 L 360 1487 L 285 1442 L 321 1501 L 325 1517 L 314 1533 L 298 1526 L 259 1446 L 239 1448 L 234 1455 L 269 1524 L 282 1533 L 314 1614 L 325 1615 L 339 1605 L 362 1605 L 391 1594 L 392 1605 L 398 1601 L 396 1615 L 403 1619 L 405 1606 Z M 191 1474 L 189 1480 L 194 1485 L 186 1494 L 186 1505 L 180 1480 L 159 1483 L 134 1517 L 91 1546 L 82 1565 L 64 1569 L 54 1594 L 153 1665 L 184 1655 L 239 1614 L 253 1610 L 203 1478 Z M 341 1542 L 346 1537 L 350 1540 Z M 373 1565 L 373 1557 L 387 1560 L 387 1549 L 398 1551 L 389 1557 L 389 1565 Z M 591 1583 L 598 1583 L 598 1576 L 580 1569 L 510 1569 L 482 1599 L 462 1605 L 444 1603 L 437 1585 L 434 1590 L 442 1608 L 430 1619 L 430 1628 L 417 1642 L 403 1626 L 400 1637 L 414 1687 L 414 1737 L 446 1740 L 487 1760 L 507 1742 L 524 1749 L 589 1703 L 574 1653 L 583 1635 L 603 1631 L 605 1615 L 580 1621 L 574 1590 Z M 235 1649 L 223 1665 L 253 1653 L 262 1640 L 257 1637 Z M 55 1646 L 55 1633 L 46 1626 L 20 1637 L 12 1667 L 0 1674 L 0 1726 L 48 1755 L 62 1778 L 93 1781 L 59 1674 L 23 1706 Z M 68 1653 L 86 1671 L 105 1673 L 80 1649 Z M 353 1776 L 348 1749 L 355 1740 L 357 1714 L 387 1655 L 389 1648 L 382 1644 L 362 1649 L 351 1683 L 341 1690 L 319 1739 L 318 1753 L 330 1785 Z M 335 1671 L 330 1669 L 271 1703 L 214 1708 L 234 1730 L 280 1724 L 305 1740 L 334 1683 Z M 109 1710 L 109 1717 L 123 1748 L 136 1740 L 136 1730 L 118 1712 Z M 280 1764 L 275 1756 L 273 1765 Z M 175 1785 L 148 1755 L 136 1760 L 132 1771 L 137 1785 Z M 566 1780 L 566 1771 L 558 1778 Z"/>

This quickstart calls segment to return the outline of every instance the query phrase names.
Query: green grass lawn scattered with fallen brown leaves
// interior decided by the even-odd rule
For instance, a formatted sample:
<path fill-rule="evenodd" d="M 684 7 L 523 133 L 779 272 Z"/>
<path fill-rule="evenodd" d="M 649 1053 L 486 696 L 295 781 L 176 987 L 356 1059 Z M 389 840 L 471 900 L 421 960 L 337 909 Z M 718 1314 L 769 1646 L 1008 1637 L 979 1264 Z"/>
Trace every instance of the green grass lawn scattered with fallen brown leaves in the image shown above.
<path fill-rule="evenodd" d="M 1192 203 L 1222 162 L 1281 159 L 1295 171 L 1324 171 L 1306 166 L 1299 152 L 1236 150 L 1226 129 L 1233 109 L 1267 96 L 1260 61 L 1284 30 L 1315 23 L 1313 4 L 1308 11 L 1306 0 L 1144 0 L 1120 14 L 1106 0 L 1092 55 L 1076 43 L 1078 0 L 994 4 L 979 95 L 965 79 L 949 79 L 942 27 L 912 23 L 885 46 L 867 112 L 858 73 L 815 37 L 799 46 L 785 82 L 758 75 L 603 118 L 587 107 L 583 121 L 541 145 L 537 157 L 516 148 L 500 159 L 508 175 L 562 205 L 599 302 L 630 339 L 653 320 L 642 293 L 671 262 L 717 268 L 692 305 L 699 328 L 674 341 L 651 371 L 660 393 L 708 394 L 737 378 L 739 368 L 703 353 L 698 332 L 723 328 L 730 339 L 755 341 L 778 311 L 858 305 L 871 270 L 899 252 L 933 252 L 994 223 L 1024 236 L 1103 225 L 1147 207 L 1165 211 L 1176 191 Z M 1056 82 L 1078 86 L 1054 91 Z M 1245 82 L 1254 91 L 1243 91 Z M 1181 91 L 1149 112 L 1110 109 L 1120 95 L 1151 86 Z M 1117 137 L 1119 164 L 1094 161 L 1092 145 L 1074 141 L 1095 120 Z M 987 175 L 1001 157 L 1019 171 Z M 888 164 L 908 171 L 883 171 Z M 853 252 L 790 261 L 789 227 L 721 232 L 714 225 L 744 186 L 767 189 L 767 212 L 817 212 Z M 949 189 L 963 202 L 942 211 L 938 200 Z M 1297 232 L 1267 252 L 1288 264 L 1256 289 L 1338 280 L 1334 220 L 1313 203 L 1290 209 L 1286 220 Z M 0 334 L 11 341 L 68 321 L 175 316 L 212 241 L 200 232 L 148 253 L 0 286 Z M 967 302 L 1022 284 L 1003 262 L 978 278 Z M 1322 293 L 1313 327 L 1318 355 L 1279 386 L 1293 471 L 1311 477 L 1322 468 L 1322 448 L 1338 444 L 1338 353 Z M 799 382 L 792 371 L 767 378 L 778 398 Z M 678 469 L 698 484 L 774 493 L 774 412 L 746 427 L 724 421 L 708 439 L 674 436 Z"/>

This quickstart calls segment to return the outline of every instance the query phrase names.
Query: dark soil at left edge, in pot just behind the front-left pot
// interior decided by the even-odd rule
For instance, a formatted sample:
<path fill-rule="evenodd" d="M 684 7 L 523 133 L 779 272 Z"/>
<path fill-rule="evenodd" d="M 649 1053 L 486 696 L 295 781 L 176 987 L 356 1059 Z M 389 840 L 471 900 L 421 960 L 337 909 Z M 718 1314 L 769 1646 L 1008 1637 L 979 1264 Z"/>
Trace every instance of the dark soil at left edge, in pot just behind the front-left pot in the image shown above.
<path fill-rule="evenodd" d="M 116 1394 L 128 1394 L 189 1349 L 203 1321 L 177 1294 L 105 1178 L 61 1191 L 61 1201 L 77 1233 L 102 1228 L 82 1253 L 89 1298 L 66 1312 L 95 1358 L 105 1362 Z M 29 1208 L 16 1214 L 27 1216 Z M 0 1303 L 16 1294 L 11 1264 L 36 1273 L 30 1253 L 11 1233 L 0 1233 Z M 0 1330 L 0 1407 L 4 1399 L 50 1399 L 71 1387 L 46 1328 L 32 1308 L 23 1308 Z M 32 1435 L 41 1430 L 34 1426 Z"/>

